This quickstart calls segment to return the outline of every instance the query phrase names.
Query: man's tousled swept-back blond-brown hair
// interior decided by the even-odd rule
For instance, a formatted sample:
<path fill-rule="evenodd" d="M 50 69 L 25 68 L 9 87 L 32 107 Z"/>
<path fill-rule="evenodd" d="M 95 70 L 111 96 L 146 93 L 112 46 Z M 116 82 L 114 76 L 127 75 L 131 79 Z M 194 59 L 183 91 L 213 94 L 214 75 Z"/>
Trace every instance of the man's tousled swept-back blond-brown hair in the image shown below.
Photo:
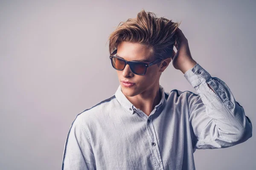
<path fill-rule="evenodd" d="M 180 23 L 174 23 L 164 17 L 157 18 L 153 12 L 145 12 L 143 9 L 137 14 L 137 18 L 120 22 L 116 30 L 110 34 L 109 53 L 112 54 L 122 41 L 126 41 L 145 46 L 154 59 L 170 58 L 177 40 L 175 31 Z M 157 65 L 160 64 L 161 62 Z"/>

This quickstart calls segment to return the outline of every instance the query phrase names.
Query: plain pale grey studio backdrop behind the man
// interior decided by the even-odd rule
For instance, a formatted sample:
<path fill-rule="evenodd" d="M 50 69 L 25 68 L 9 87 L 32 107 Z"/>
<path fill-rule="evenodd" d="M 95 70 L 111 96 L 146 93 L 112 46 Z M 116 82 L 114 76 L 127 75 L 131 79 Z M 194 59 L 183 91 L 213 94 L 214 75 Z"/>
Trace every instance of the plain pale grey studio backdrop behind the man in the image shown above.
<path fill-rule="evenodd" d="M 109 34 L 144 8 L 182 21 L 193 59 L 224 81 L 255 120 L 255 1 L 0 1 L 0 169 L 56 170 L 76 115 L 119 86 Z M 166 91 L 192 91 L 170 63 Z M 255 130 L 248 141 L 197 150 L 197 170 L 253 170 Z"/>

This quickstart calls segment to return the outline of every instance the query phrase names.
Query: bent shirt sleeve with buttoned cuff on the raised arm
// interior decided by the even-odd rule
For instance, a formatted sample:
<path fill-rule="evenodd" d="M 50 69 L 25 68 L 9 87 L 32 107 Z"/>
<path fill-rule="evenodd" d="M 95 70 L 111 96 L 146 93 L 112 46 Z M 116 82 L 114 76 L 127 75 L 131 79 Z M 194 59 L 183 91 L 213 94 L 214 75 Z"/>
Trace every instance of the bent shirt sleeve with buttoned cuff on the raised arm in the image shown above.
<path fill-rule="evenodd" d="M 198 63 L 184 77 L 198 93 L 187 94 L 194 149 L 230 147 L 252 137 L 250 119 L 221 79 L 211 77 Z"/>

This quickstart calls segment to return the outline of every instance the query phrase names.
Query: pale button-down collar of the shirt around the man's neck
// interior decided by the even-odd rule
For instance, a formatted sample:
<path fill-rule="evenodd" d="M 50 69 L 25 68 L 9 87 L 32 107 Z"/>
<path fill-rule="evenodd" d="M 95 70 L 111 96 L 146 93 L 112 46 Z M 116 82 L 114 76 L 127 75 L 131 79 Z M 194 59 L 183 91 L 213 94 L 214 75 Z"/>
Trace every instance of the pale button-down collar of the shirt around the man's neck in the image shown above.
<path fill-rule="evenodd" d="M 157 111 L 159 110 L 160 106 L 163 105 L 164 101 L 165 101 L 165 92 L 164 89 L 161 85 L 159 85 L 160 91 L 161 91 L 161 100 L 158 103 L 158 105 L 155 106 L 155 108 L 157 108 Z M 116 90 L 115 93 L 116 99 L 118 100 L 118 102 L 131 114 L 134 113 L 134 111 L 137 110 L 137 108 L 135 108 L 135 106 L 126 98 L 126 96 L 122 93 L 122 88 L 121 85 L 119 85 L 119 87 Z"/>

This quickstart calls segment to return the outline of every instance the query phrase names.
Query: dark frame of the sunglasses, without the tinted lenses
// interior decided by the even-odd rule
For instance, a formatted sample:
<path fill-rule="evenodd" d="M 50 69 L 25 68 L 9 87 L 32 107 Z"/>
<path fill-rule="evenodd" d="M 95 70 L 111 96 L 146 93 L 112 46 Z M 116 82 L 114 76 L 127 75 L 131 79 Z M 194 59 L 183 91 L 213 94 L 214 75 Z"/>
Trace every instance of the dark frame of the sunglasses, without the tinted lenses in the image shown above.
<path fill-rule="evenodd" d="M 122 59 L 122 58 L 113 56 L 113 55 L 116 54 L 116 52 L 117 52 L 117 49 L 116 49 L 115 51 L 113 51 L 113 53 L 109 56 L 109 58 L 110 58 L 110 60 L 111 60 L 112 67 L 113 67 L 114 69 L 116 69 L 116 68 L 113 66 L 113 62 L 112 62 L 112 59 L 113 59 L 113 58 L 118 58 L 118 59 L 121 59 L 121 60 L 125 61 L 125 66 L 128 64 L 128 65 L 130 66 L 130 68 L 131 68 L 131 71 L 132 71 L 134 74 L 137 74 L 137 73 L 135 73 L 135 71 L 134 71 L 133 68 L 132 68 L 133 63 L 141 63 L 141 64 L 145 65 L 145 66 L 146 66 L 146 69 L 145 69 L 144 74 L 137 74 L 137 75 L 145 75 L 145 74 L 146 74 L 146 71 L 147 71 L 147 68 L 148 68 L 149 66 L 155 65 L 155 64 L 157 64 L 158 62 L 160 62 L 160 61 L 163 60 L 163 59 L 159 58 L 159 59 L 156 59 L 156 60 L 154 60 L 153 62 L 151 62 L 151 63 L 149 63 L 149 64 L 147 64 L 147 63 L 145 63 L 145 62 L 139 62 L 139 61 L 127 61 L 127 60 L 125 60 L 125 59 Z M 124 68 L 123 68 L 122 70 L 125 69 L 125 66 L 124 66 Z M 119 70 L 119 69 L 116 69 L 116 70 Z M 122 70 L 119 70 L 119 71 L 122 71 Z"/>

